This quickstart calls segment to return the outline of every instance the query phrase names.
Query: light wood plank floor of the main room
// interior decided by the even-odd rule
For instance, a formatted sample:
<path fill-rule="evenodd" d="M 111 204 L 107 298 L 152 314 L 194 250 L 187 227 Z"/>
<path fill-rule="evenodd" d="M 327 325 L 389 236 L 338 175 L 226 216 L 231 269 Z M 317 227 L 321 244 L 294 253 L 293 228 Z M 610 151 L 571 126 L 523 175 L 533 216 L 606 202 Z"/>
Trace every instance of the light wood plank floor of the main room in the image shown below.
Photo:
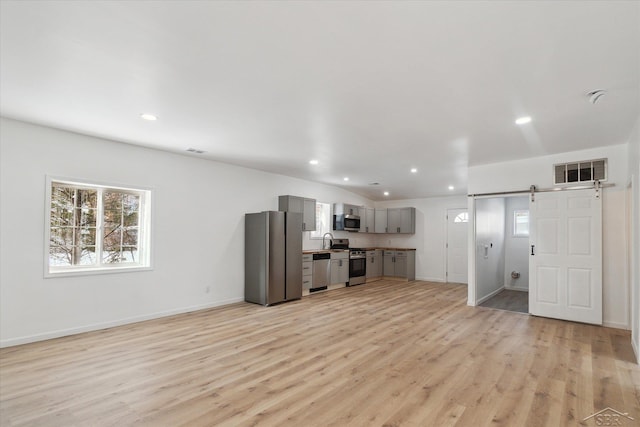
<path fill-rule="evenodd" d="M 2 349 L 0 424 L 575 426 L 606 407 L 640 420 L 628 332 L 465 302 L 461 285 L 380 281 Z"/>

